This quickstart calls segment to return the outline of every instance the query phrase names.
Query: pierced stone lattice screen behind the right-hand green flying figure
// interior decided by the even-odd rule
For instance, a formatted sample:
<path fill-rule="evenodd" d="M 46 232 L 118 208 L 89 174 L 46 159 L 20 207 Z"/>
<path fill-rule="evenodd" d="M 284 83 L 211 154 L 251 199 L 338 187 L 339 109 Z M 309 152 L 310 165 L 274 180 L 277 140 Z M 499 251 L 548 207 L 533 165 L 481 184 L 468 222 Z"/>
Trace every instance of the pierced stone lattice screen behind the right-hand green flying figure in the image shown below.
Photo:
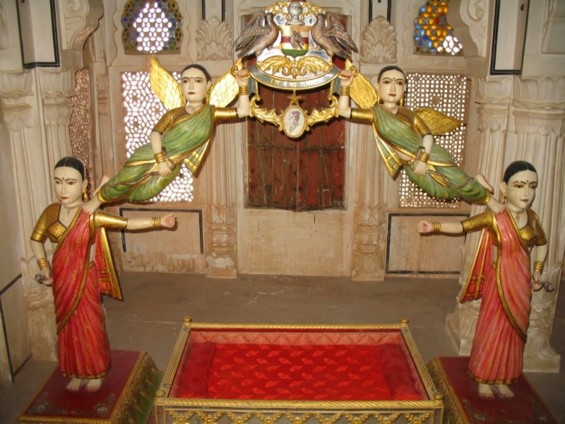
<path fill-rule="evenodd" d="M 469 83 L 464 75 L 408 73 L 406 106 L 411 110 L 432 107 L 439 112 L 466 122 L 469 102 Z M 434 136 L 434 143 L 446 148 L 457 165 L 463 165 L 467 127 L 459 126 L 448 134 Z M 463 167 L 463 169 L 465 169 Z M 458 200 L 441 200 L 428 196 L 424 190 L 400 175 L 399 203 L 402 208 L 458 208 Z"/>

